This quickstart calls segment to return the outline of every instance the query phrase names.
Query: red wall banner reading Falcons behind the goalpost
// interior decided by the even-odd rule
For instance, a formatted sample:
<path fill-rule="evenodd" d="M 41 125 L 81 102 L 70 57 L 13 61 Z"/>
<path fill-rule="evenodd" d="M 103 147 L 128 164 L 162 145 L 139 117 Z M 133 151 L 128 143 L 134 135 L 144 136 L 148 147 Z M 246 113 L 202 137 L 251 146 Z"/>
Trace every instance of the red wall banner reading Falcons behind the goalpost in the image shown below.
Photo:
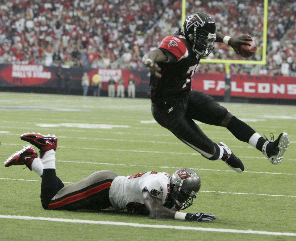
<path fill-rule="evenodd" d="M 209 95 L 223 96 L 224 79 L 222 73 L 195 73 L 191 87 Z M 296 78 L 236 74 L 231 76 L 230 90 L 233 97 L 296 99 Z"/>

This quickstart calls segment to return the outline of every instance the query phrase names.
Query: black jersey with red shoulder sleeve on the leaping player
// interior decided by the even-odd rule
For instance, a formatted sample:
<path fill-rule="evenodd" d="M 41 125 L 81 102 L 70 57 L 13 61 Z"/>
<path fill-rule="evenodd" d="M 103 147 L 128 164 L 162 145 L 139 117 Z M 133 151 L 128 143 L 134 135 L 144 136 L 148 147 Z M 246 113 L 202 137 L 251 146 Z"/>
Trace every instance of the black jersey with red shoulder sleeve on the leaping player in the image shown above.
<path fill-rule="evenodd" d="M 150 98 L 152 102 L 174 101 L 183 98 L 191 89 L 191 77 L 200 57 L 192 51 L 180 30 L 165 37 L 158 48 L 171 55 L 173 61 L 158 63 L 161 68 L 161 78 L 151 74 Z"/>

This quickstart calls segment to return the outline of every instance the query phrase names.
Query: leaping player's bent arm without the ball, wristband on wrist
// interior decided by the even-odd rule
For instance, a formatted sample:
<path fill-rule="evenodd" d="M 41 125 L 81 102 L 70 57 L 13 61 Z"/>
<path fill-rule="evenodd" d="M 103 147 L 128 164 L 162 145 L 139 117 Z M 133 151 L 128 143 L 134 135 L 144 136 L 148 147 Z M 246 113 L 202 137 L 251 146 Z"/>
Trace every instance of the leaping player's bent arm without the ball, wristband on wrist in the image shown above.
<path fill-rule="evenodd" d="M 143 64 L 148 67 L 150 73 L 158 78 L 161 77 L 161 74 L 159 73 L 161 69 L 157 63 L 164 61 L 167 61 L 167 56 L 160 49 L 154 49 L 153 51 L 146 53 L 142 58 Z"/>

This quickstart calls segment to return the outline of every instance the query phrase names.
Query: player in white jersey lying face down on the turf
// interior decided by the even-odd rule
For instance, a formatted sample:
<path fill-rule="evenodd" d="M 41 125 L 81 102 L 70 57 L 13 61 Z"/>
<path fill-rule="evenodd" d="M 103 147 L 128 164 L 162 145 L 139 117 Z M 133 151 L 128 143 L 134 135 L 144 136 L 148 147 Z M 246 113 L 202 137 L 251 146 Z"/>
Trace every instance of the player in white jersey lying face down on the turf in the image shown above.
<path fill-rule="evenodd" d="M 200 188 L 200 178 L 190 168 L 181 168 L 170 176 L 166 172 L 144 172 L 119 176 L 98 171 L 76 183 L 64 186 L 55 173 L 57 137 L 27 133 L 21 139 L 40 150 L 40 158 L 31 146 L 12 154 L 6 167 L 25 164 L 41 181 L 44 209 L 101 210 L 113 207 L 133 214 L 150 214 L 151 218 L 213 221 L 215 215 L 179 212 L 193 203 Z"/>

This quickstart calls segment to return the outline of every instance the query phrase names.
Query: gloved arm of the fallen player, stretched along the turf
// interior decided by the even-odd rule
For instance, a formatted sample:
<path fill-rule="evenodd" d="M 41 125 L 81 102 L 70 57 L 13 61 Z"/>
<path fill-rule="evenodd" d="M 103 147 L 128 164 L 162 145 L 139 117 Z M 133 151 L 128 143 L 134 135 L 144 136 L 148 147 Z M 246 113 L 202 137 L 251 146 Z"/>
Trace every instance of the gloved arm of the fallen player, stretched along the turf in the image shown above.
<path fill-rule="evenodd" d="M 152 197 L 148 191 L 143 191 L 142 195 L 143 195 L 145 206 L 150 212 L 150 218 L 171 218 L 171 219 L 197 221 L 197 222 L 213 221 L 214 219 L 216 219 L 215 215 L 213 214 L 205 214 L 205 213 L 191 214 L 191 213 L 176 212 L 162 206 L 161 200 L 156 197 Z"/>

